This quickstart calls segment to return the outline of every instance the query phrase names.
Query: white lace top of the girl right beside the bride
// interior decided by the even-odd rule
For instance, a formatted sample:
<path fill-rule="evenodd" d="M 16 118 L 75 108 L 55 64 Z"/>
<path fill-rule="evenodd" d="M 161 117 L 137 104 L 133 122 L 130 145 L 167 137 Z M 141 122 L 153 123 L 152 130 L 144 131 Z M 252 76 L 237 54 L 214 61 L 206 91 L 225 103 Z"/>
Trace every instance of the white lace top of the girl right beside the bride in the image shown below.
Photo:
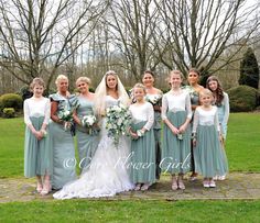
<path fill-rule="evenodd" d="M 134 123 L 147 121 L 143 127 L 147 130 L 152 127 L 154 122 L 154 111 L 151 103 L 144 102 L 142 105 L 134 103 L 129 107 L 129 110 L 132 114 Z"/>

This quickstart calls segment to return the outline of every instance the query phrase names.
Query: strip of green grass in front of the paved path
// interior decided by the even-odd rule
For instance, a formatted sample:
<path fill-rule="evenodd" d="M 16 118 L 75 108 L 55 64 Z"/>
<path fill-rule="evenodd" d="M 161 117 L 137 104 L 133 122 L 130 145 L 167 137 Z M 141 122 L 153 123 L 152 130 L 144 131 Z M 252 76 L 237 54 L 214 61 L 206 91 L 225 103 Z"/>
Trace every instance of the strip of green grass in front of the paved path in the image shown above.
<path fill-rule="evenodd" d="M 260 201 L 33 201 L 0 204 L 0 222 L 246 223 L 259 222 L 259 210 Z"/>

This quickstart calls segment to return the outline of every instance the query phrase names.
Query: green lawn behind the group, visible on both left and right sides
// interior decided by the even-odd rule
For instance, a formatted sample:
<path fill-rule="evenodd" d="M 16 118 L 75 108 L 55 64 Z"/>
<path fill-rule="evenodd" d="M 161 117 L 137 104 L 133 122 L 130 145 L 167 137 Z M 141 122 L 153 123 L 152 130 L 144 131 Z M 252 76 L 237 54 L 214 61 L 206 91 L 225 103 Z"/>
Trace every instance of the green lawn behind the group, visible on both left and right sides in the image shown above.
<path fill-rule="evenodd" d="M 230 171 L 260 171 L 260 114 L 230 115 L 226 144 Z M 23 119 L 0 119 L 0 177 L 23 176 Z"/>

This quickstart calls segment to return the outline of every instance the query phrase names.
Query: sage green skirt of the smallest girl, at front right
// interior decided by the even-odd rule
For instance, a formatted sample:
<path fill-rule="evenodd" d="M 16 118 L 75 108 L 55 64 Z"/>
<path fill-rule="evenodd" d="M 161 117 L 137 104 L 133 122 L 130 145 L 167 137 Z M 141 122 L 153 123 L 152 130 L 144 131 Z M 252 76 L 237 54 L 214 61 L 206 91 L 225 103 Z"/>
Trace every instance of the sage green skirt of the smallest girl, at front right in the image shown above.
<path fill-rule="evenodd" d="M 197 144 L 194 147 L 195 171 L 204 177 L 228 172 L 226 153 L 214 125 L 197 126 Z"/>

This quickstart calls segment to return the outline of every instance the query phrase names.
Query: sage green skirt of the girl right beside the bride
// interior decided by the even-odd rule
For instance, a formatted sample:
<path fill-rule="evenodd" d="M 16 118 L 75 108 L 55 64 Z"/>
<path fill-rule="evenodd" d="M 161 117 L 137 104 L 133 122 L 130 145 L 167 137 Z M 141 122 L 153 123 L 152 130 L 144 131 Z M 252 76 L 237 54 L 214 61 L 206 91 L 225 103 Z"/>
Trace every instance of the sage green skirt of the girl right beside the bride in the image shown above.
<path fill-rule="evenodd" d="M 133 132 L 141 130 L 147 121 L 132 124 Z M 133 183 L 155 182 L 155 141 L 153 129 L 131 142 L 130 179 Z"/>

